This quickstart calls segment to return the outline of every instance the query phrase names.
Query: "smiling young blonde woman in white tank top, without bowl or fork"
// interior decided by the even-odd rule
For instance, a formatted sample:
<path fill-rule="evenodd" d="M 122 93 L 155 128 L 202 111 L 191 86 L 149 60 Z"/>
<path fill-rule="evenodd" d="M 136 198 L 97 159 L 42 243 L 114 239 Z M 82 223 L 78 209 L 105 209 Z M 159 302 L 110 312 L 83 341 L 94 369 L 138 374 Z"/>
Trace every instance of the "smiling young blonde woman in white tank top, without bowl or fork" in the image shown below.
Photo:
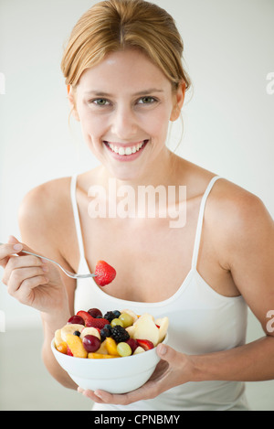
<path fill-rule="evenodd" d="M 173 18 L 143 0 L 98 3 L 79 19 L 62 70 L 71 112 L 100 166 L 30 191 L 19 217 L 23 242 L 11 237 L 0 247 L 8 292 L 41 312 L 45 364 L 68 388 L 78 387 L 50 341 L 76 311 L 131 308 L 169 317 L 169 345 L 158 346 L 162 360 L 151 380 L 128 394 L 82 391 L 96 410 L 248 410 L 244 381 L 274 377 L 267 329 L 273 221 L 257 197 L 166 147 L 190 86 L 182 54 Z M 90 188 L 108 196 L 113 181 L 118 194 L 132 189 L 136 212 L 141 187 L 161 186 L 168 195 L 173 186 L 185 224 L 175 228 L 157 210 L 153 217 L 95 216 Z M 186 201 L 178 199 L 182 186 Z M 111 201 L 100 203 L 108 209 Z M 104 259 L 117 277 L 103 290 L 92 280 L 77 284 L 22 248 L 75 273 L 94 272 Z M 245 344 L 248 306 L 266 336 Z"/>

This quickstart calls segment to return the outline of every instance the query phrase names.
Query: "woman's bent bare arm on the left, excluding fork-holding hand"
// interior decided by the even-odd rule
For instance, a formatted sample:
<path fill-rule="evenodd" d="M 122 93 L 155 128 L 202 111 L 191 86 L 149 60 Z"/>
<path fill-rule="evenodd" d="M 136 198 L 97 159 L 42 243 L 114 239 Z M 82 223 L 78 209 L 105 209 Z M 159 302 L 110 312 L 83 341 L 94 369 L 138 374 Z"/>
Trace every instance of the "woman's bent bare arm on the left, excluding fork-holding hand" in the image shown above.
<path fill-rule="evenodd" d="M 69 249 L 69 238 L 73 237 L 71 225 L 68 225 L 68 220 L 71 220 L 71 217 L 69 218 L 70 211 L 69 181 L 48 182 L 33 189 L 24 198 L 19 210 L 19 227 L 22 241 L 27 246 L 60 263 L 69 271 L 73 271 L 63 256 L 63 249 L 66 247 Z M 58 270 L 50 263 L 47 263 L 47 267 L 49 273 L 52 269 Z M 48 273 L 46 275 L 49 277 Z M 37 308 L 40 310 L 44 329 L 42 357 L 45 366 L 57 381 L 71 389 L 77 389 L 77 386 L 70 379 L 68 373 L 58 365 L 51 352 L 50 343 L 54 338 L 56 329 L 64 326 L 68 318 L 74 314 L 75 287 L 76 281 L 58 270 L 58 288 L 63 294 L 62 302 L 58 308 L 52 306 L 46 311 L 41 311 L 41 307 Z M 48 288 L 44 289 L 43 292 L 47 294 L 47 291 L 48 295 L 54 296 L 55 291 L 51 293 Z"/>

